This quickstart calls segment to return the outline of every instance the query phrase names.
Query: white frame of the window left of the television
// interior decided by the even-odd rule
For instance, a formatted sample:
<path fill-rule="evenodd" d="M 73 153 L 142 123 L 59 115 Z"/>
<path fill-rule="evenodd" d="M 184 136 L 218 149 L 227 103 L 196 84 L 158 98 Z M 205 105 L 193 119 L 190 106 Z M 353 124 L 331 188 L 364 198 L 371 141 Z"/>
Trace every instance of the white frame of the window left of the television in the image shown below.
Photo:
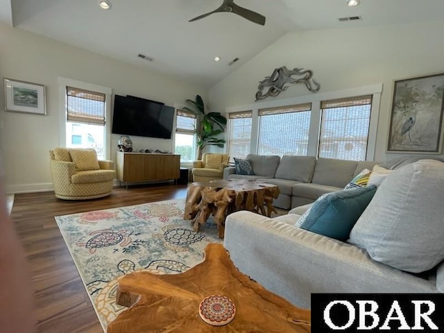
<path fill-rule="evenodd" d="M 105 94 L 105 125 L 104 125 L 104 147 L 103 152 L 105 155 L 105 160 L 110 160 L 111 158 L 111 97 L 112 88 L 103 87 L 101 85 L 94 85 L 93 83 L 87 83 L 83 81 L 73 80 L 71 78 L 58 78 L 59 85 L 59 108 L 60 108 L 60 137 L 59 144 L 61 147 L 66 147 L 66 124 L 67 124 L 67 87 L 76 87 L 85 90 L 91 90 L 93 92 L 100 92 Z"/>

